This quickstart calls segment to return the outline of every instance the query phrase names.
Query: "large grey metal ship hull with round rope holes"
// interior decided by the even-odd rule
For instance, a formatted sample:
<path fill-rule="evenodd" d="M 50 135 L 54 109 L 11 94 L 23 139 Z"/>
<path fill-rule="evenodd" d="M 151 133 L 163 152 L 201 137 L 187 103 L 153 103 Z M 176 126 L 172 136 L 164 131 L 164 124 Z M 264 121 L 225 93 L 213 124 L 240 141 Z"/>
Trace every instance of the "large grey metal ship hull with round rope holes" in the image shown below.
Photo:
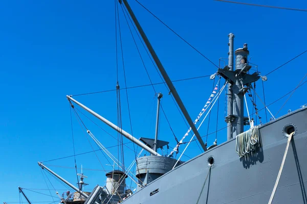
<path fill-rule="evenodd" d="M 306 118 L 307 108 L 302 108 L 261 125 L 262 144 L 253 156 L 240 159 L 234 138 L 167 172 L 122 203 L 268 203 L 288 140 L 284 127 L 290 123 L 295 135 L 272 203 L 307 203 Z M 210 157 L 214 164 L 209 172 Z"/>

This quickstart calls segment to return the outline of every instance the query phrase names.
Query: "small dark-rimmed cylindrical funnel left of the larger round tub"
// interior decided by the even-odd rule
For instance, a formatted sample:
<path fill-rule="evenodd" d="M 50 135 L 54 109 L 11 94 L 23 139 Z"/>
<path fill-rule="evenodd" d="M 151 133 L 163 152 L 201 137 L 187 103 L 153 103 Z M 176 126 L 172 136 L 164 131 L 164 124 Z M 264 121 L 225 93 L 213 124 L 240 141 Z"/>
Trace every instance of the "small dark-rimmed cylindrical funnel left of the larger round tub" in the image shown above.
<path fill-rule="evenodd" d="M 114 170 L 105 174 L 106 190 L 108 194 L 122 195 L 125 193 L 126 177 L 124 172 Z"/>

